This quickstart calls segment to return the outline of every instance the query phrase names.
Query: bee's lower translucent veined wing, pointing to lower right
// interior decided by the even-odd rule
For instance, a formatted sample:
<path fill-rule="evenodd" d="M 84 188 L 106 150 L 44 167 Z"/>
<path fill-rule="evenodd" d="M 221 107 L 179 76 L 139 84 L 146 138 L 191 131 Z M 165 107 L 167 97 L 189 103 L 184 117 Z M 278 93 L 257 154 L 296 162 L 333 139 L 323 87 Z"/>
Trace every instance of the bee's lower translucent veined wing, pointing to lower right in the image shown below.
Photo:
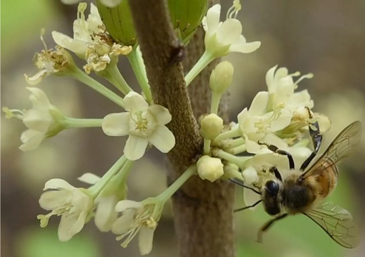
<path fill-rule="evenodd" d="M 317 223 L 337 243 L 346 248 L 355 248 L 360 235 L 350 212 L 334 203 L 323 203 L 319 208 L 304 213 Z"/>

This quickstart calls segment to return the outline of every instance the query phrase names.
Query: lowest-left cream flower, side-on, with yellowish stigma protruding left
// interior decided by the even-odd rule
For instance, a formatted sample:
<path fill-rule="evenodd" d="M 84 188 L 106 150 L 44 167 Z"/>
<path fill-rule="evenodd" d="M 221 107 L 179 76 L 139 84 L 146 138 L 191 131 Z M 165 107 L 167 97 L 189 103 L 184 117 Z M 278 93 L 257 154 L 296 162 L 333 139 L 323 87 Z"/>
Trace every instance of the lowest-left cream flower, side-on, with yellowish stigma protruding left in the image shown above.
<path fill-rule="evenodd" d="M 37 219 L 40 219 L 41 227 L 45 227 L 52 215 L 61 215 L 58 238 L 60 241 L 68 241 L 84 227 L 94 206 L 94 199 L 87 189 L 73 187 L 62 179 L 47 181 L 43 190 L 47 189 L 56 190 L 44 192 L 39 205 L 51 212 L 40 214 Z"/>

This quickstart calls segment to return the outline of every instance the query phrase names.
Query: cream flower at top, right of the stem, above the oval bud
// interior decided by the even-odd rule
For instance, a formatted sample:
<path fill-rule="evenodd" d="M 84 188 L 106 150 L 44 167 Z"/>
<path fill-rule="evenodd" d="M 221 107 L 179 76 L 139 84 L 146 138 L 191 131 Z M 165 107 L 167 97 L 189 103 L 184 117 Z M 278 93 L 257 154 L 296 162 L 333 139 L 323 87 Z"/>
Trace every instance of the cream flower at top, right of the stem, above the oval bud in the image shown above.
<path fill-rule="evenodd" d="M 203 18 L 203 28 L 205 30 L 205 49 L 215 57 L 227 55 L 231 52 L 251 53 L 260 47 L 260 42 L 247 43 L 245 37 L 241 35 L 242 24 L 235 17 L 240 7 L 231 8 L 227 13 L 227 19 L 220 22 L 220 4 L 216 4 L 208 9 L 207 16 Z M 230 12 L 232 11 L 233 12 Z"/>

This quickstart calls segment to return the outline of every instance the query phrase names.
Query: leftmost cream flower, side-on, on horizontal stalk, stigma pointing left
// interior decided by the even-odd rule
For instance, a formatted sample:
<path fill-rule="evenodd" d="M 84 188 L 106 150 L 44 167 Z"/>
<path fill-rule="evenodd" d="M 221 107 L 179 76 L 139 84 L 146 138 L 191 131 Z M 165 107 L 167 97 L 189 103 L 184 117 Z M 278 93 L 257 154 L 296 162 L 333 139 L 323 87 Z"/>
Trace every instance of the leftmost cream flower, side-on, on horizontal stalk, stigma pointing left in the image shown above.
<path fill-rule="evenodd" d="M 19 149 L 23 151 L 37 148 L 43 139 L 54 136 L 65 129 L 65 125 L 62 124 L 64 116 L 50 104 L 45 92 L 39 88 L 27 87 L 27 89 L 31 92 L 29 96 L 32 103 L 31 109 L 20 111 L 3 107 L 7 118 L 18 118 L 28 128 L 20 136 L 23 144 Z"/>

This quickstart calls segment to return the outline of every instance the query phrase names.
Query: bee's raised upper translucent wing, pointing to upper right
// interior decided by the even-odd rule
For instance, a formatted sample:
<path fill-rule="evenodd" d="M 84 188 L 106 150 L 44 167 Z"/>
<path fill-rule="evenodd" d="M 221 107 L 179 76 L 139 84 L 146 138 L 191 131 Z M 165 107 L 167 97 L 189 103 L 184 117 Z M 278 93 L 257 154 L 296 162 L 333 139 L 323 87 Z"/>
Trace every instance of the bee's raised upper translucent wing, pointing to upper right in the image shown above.
<path fill-rule="evenodd" d="M 321 157 L 301 177 L 308 177 L 311 173 L 320 172 L 323 169 L 333 167 L 348 157 L 351 150 L 360 142 L 361 122 L 355 121 L 341 131 L 341 133 L 328 146 Z"/>

